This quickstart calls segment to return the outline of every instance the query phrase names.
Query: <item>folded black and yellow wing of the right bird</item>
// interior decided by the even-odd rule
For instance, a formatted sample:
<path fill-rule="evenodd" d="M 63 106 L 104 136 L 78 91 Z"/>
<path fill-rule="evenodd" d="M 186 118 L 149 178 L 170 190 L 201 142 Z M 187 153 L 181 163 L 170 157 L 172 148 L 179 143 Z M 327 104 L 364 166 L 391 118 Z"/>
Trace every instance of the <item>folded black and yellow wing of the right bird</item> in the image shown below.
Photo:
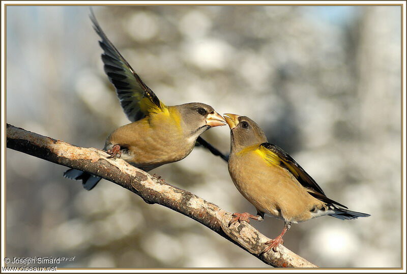
<path fill-rule="evenodd" d="M 310 195 L 328 204 L 337 204 L 347 208 L 343 204 L 329 199 L 321 187 L 316 184 L 316 181 L 280 147 L 271 143 L 263 143 L 260 145 L 260 150 L 266 155 L 266 160 L 271 164 L 279 165 L 292 173 Z"/>

